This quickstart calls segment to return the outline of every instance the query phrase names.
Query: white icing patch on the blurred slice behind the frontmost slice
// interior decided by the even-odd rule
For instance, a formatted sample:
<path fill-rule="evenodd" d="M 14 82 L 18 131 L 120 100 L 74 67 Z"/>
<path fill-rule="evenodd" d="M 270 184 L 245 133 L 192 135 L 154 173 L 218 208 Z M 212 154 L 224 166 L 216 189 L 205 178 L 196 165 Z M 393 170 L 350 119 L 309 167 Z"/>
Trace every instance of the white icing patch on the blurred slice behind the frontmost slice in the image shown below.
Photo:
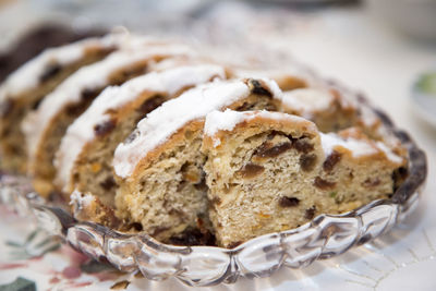
<path fill-rule="evenodd" d="M 286 107 L 299 111 L 304 118 L 312 118 L 317 111 L 328 109 L 335 97 L 322 88 L 302 88 L 283 92 L 281 99 Z"/>

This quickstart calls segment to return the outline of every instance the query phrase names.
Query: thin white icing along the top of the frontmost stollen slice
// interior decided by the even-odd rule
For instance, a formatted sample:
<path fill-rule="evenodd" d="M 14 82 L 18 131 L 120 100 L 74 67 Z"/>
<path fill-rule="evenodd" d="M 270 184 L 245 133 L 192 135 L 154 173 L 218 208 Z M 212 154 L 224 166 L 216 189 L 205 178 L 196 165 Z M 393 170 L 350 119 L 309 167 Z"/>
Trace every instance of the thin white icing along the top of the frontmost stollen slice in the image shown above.
<path fill-rule="evenodd" d="M 206 122 L 204 128 L 204 134 L 210 136 L 214 141 L 214 147 L 217 147 L 221 144 L 220 138 L 215 137 L 215 134 L 219 131 L 232 131 L 234 126 L 238 124 L 250 121 L 254 118 L 264 118 L 264 119 L 271 119 L 280 121 L 291 121 L 293 123 L 305 123 L 312 124 L 307 120 L 291 116 L 281 112 L 270 112 L 266 110 L 259 111 L 247 111 L 247 112 L 239 112 L 234 110 L 227 109 L 226 111 L 221 112 L 215 110 L 206 116 Z M 312 124 L 312 131 L 316 131 L 315 124 Z"/>

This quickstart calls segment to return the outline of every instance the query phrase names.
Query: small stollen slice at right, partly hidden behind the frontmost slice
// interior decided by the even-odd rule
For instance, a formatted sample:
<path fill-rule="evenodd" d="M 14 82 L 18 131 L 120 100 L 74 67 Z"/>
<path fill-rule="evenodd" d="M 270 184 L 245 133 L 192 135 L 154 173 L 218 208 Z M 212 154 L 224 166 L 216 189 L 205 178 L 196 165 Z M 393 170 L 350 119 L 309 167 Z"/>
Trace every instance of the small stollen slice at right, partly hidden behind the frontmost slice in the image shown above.
<path fill-rule="evenodd" d="M 389 198 L 404 178 L 402 151 L 370 140 L 360 128 L 320 133 L 320 140 L 326 159 L 313 185 L 324 213 L 343 213 Z"/>

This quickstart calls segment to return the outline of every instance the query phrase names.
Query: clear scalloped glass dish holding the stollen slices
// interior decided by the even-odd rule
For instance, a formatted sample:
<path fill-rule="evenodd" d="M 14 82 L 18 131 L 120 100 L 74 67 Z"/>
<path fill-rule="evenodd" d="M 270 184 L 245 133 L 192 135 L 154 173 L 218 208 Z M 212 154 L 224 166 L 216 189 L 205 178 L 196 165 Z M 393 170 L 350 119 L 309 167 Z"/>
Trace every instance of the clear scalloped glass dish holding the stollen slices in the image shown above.
<path fill-rule="evenodd" d="M 364 99 L 360 101 L 370 107 Z M 124 234 L 77 221 L 68 211 L 46 203 L 22 177 L 0 178 L 0 202 L 34 218 L 39 227 L 80 252 L 123 271 L 140 270 L 152 280 L 173 276 L 190 286 L 214 286 L 235 282 L 240 277 L 267 277 L 281 266 L 302 268 L 315 259 L 364 244 L 391 229 L 417 205 L 427 174 L 425 154 L 383 112 L 372 110 L 409 151 L 409 177 L 393 196 L 346 214 L 319 215 L 300 228 L 258 237 L 232 250 L 173 246 L 146 234 Z"/>

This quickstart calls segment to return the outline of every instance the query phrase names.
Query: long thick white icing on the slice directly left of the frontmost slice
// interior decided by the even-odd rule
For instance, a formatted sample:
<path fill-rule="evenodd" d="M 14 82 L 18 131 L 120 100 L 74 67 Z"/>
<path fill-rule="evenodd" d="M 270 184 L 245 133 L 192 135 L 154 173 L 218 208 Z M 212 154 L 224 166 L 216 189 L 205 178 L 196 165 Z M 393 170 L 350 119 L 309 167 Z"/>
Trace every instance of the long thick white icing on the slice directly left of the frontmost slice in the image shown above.
<path fill-rule="evenodd" d="M 268 81 L 265 84 L 277 87 L 275 82 Z M 275 92 L 271 87 L 270 89 Z M 121 143 L 117 147 L 113 159 L 116 173 L 121 178 L 130 177 L 148 151 L 168 141 L 180 128 L 249 95 L 250 88 L 243 81 L 216 81 L 165 102 L 140 121 L 133 141 Z"/>

